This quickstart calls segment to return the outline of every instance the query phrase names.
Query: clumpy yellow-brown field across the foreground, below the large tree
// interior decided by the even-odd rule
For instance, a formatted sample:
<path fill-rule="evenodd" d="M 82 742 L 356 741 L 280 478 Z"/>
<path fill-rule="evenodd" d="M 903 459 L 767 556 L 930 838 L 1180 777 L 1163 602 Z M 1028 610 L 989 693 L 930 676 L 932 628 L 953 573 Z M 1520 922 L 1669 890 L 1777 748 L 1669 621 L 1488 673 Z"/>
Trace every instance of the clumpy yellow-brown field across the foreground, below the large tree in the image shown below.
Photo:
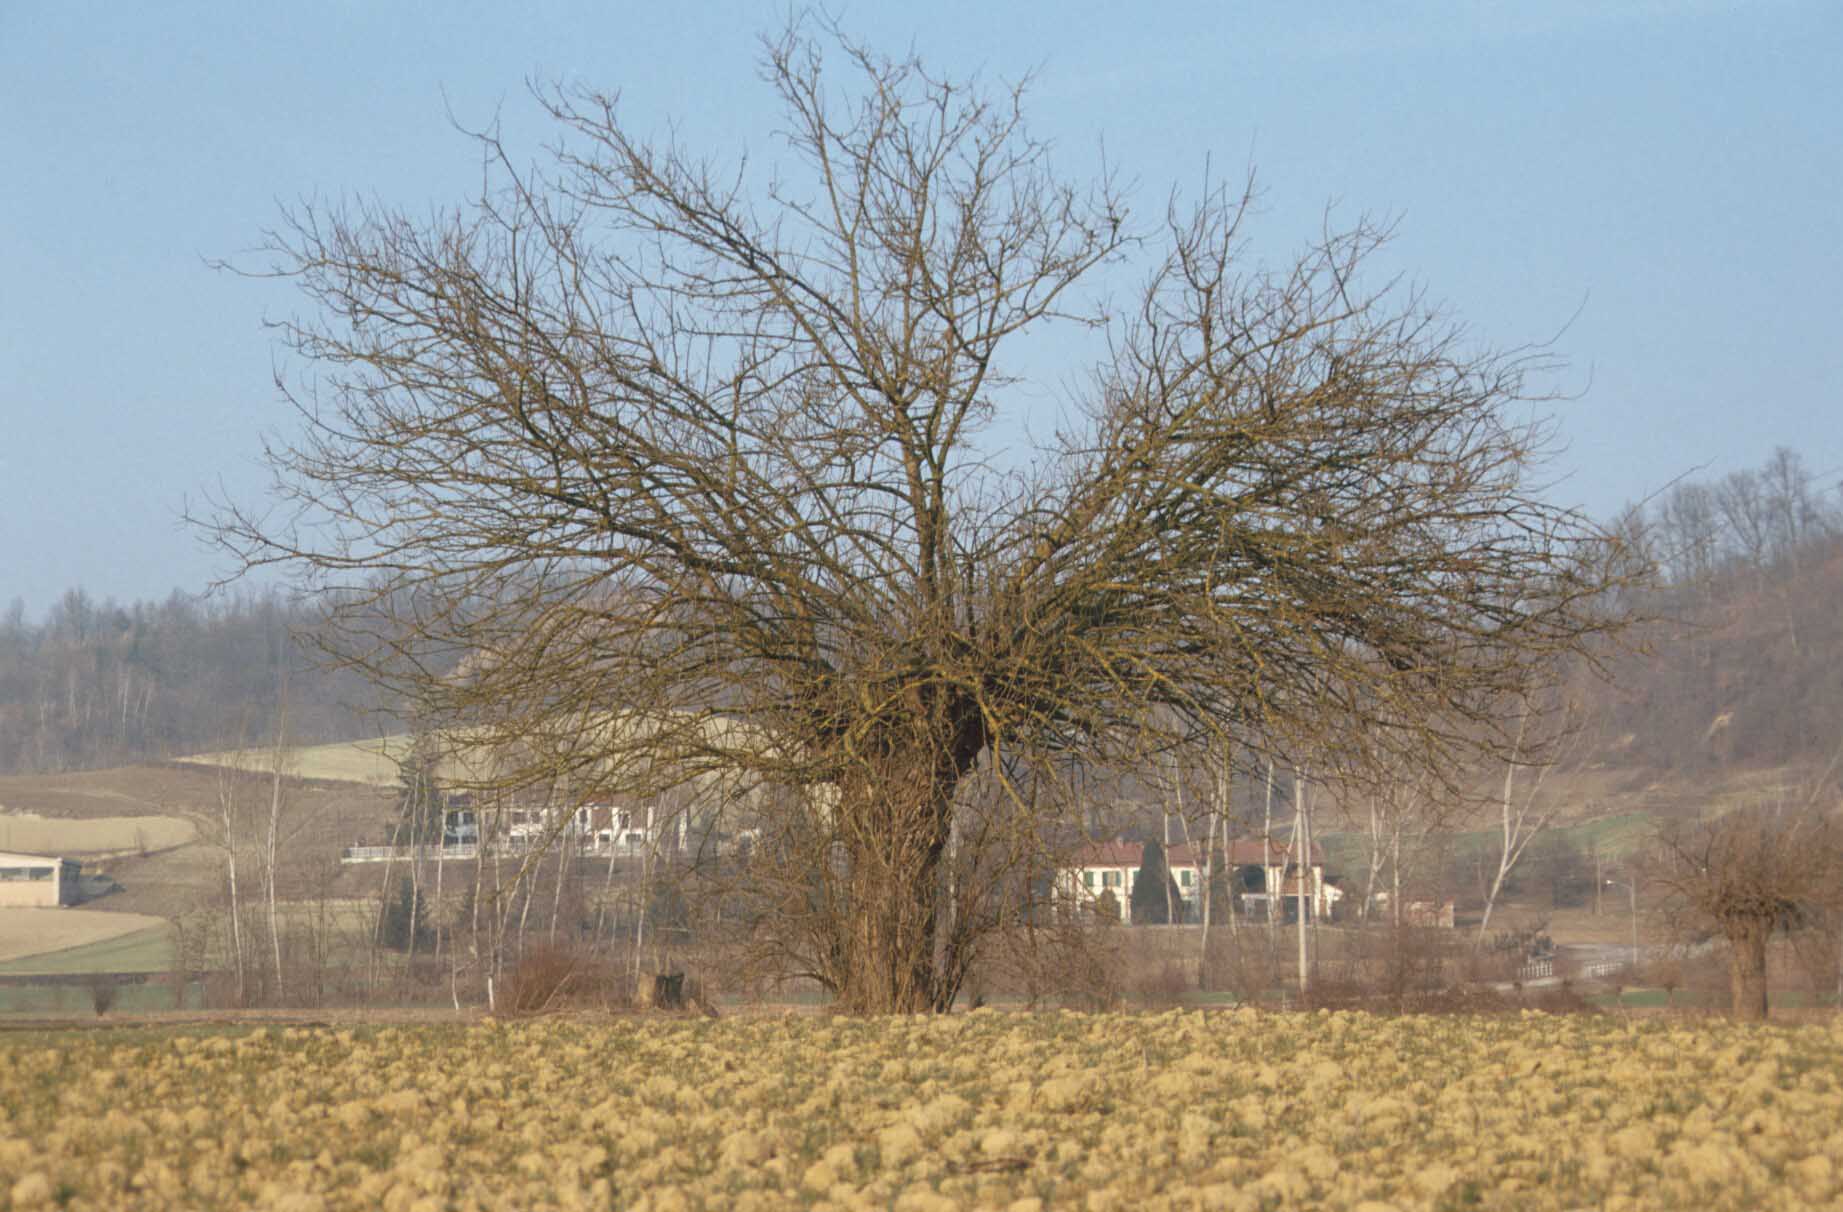
<path fill-rule="evenodd" d="M 1843 1020 L 1253 1011 L 0 1043 L 13 1208 L 1795 1208 Z"/>

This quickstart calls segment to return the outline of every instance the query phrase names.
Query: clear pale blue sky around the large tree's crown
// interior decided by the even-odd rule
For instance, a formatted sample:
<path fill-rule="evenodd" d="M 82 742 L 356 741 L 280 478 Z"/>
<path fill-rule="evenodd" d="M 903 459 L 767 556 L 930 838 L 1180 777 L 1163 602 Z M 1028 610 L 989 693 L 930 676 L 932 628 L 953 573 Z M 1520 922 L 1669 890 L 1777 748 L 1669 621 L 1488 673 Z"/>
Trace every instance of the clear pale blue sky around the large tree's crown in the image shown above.
<path fill-rule="evenodd" d="M 1777 444 L 1843 477 L 1843 4 L 844 4 L 953 72 L 1036 70 L 1036 129 L 1141 210 L 1253 166 L 1255 249 L 1393 216 L 1390 265 L 1482 337 L 1559 337 L 1554 490 L 1605 514 Z M 450 125 L 546 129 L 527 77 L 770 149 L 774 4 L 0 0 L 0 604 L 199 589 L 186 499 L 262 497 L 286 431 L 264 317 L 206 267 L 280 203 L 424 212 L 477 186 Z M 1572 324 L 1570 324 L 1572 319 Z"/>

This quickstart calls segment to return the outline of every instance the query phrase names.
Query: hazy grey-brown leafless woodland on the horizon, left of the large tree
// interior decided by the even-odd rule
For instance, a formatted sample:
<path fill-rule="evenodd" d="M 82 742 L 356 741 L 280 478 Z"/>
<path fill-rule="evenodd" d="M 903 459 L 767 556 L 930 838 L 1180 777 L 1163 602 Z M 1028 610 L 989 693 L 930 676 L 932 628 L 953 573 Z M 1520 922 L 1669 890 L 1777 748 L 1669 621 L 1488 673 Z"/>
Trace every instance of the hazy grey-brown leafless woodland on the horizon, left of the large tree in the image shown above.
<path fill-rule="evenodd" d="M 293 742 L 361 737 L 376 693 L 295 643 L 323 617 L 278 589 L 118 604 L 76 588 L 39 621 L 15 599 L 0 615 L 0 772 L 267 742 L 284 696 Z"/>

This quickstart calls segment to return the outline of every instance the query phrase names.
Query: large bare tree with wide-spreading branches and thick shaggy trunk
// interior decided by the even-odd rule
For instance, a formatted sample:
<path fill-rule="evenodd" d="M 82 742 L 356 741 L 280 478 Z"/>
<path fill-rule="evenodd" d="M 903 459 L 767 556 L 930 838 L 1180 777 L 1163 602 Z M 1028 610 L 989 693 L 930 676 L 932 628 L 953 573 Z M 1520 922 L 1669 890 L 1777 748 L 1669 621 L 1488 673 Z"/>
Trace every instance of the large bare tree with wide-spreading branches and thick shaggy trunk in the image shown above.
<path fill-rule="evenodd" d="M 1143 221 L 1023 90 L 824 22 L 763 77 L 770 171 L 544 92 L 551 158 L 481 134 L 463 208 L 289 212 L 258 271 L 310 304 L 304 427 L 278 503 L 214 525 L 337 589 L 339 652 L 426 718 L 531 755 L 496 777 L 776 788 L 796 829 L 756 851 L 820 923 L 783 941 L 844 1008 L 953 1002 L 975 770 L 1041 814 L 1017 772 L 1211 739 L 1441 768 L 1609 624 L 1598 534 L 1530 481 L 1543 354 L 1366 293 L 1382 232 L 1261 269 L 1242 190 Z M 1006 453 L 1051 350 L 1067 407 Z"/>

